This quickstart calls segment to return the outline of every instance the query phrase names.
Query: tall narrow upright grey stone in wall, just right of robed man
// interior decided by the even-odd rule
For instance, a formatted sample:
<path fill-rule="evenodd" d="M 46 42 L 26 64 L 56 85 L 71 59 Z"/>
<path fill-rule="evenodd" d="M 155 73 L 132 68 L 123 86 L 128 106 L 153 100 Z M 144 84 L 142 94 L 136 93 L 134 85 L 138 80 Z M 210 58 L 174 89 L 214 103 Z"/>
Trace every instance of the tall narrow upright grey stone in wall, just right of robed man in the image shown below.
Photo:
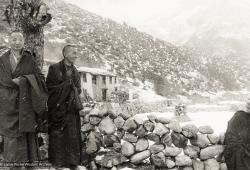
<path fill-rule="evenodd" d="M 87 137 L 86 152 L 88 154 L 93 154 L 97 152 L 98 149 L 99 147 L 98 147 L 98 141 L 97 141 L 96 135 L 94 132 L 90 132 Z"/>

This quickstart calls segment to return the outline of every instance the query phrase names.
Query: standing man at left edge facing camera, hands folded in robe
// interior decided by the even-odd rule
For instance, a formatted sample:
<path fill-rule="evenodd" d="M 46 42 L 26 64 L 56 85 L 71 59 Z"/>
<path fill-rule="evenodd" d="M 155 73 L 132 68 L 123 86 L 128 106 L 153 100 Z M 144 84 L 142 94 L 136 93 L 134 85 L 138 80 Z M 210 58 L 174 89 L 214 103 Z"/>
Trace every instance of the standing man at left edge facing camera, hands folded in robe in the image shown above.
<path fill-rule="evenodd" d="M 24 49 L 24 37 L 14 31 L 10 49 L 0 55 L 0 135 L 4 162 L 33 163 L 40 160 L 38 120 L 46 111 L 45 78 L 35 56 Z M 12 169 L 18 169 L 13 167 Z"/>

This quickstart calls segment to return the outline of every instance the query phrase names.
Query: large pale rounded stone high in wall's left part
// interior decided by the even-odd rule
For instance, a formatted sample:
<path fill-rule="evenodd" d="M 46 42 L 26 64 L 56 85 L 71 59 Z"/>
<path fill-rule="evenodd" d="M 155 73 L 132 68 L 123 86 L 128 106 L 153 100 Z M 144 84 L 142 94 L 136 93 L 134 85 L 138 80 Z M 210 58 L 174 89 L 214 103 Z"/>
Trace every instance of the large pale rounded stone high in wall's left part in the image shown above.
<path fill-rule="evenodd" d="M 106 117 L 100 122 L 99 130 L 103 134 L 112 135 L 115 133 L 116 127 L 112 119 L 110 119 L 109 117 Z"/>

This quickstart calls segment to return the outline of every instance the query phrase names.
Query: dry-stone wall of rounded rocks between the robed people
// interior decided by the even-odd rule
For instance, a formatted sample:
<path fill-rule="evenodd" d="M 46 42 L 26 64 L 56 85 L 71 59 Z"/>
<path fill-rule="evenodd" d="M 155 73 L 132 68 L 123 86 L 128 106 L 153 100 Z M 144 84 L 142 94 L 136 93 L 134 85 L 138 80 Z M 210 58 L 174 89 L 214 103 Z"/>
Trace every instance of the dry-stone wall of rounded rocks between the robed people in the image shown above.
<path fill-rule="evenodd" d="M 126 108 L 105 104 L 82 118 L 81 131 L 86 163 L 94 160 L 98 169 L 114 170 L 128 162 L 161 170 L 227 169 L 222 156 L 224 134 L 214 134 L 210 126 L 181 126 L 154 115 L 143 121 Z"/>

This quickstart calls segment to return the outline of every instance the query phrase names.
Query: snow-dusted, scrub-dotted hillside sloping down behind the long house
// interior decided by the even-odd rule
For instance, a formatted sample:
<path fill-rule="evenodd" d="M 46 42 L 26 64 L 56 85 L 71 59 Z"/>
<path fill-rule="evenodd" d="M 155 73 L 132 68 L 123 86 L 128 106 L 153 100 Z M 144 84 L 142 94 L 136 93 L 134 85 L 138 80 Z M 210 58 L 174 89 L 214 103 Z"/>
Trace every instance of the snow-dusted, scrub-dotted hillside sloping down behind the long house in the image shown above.
<path fill-rule="evenodd" d="M 119 76 L 150 80 L 162 95 L 231 90 L 246 84 L 245 73 L 250 72 L 237 58 L 228 60 L 176 47 L 126 23 L 118 24 L 60 0 L 47 3 L 53 20 L 45 29 L 46 58 L 59 60 L 61 47 L 76 43 L 82 46 L 79 65 L 105 67 Z"/>

